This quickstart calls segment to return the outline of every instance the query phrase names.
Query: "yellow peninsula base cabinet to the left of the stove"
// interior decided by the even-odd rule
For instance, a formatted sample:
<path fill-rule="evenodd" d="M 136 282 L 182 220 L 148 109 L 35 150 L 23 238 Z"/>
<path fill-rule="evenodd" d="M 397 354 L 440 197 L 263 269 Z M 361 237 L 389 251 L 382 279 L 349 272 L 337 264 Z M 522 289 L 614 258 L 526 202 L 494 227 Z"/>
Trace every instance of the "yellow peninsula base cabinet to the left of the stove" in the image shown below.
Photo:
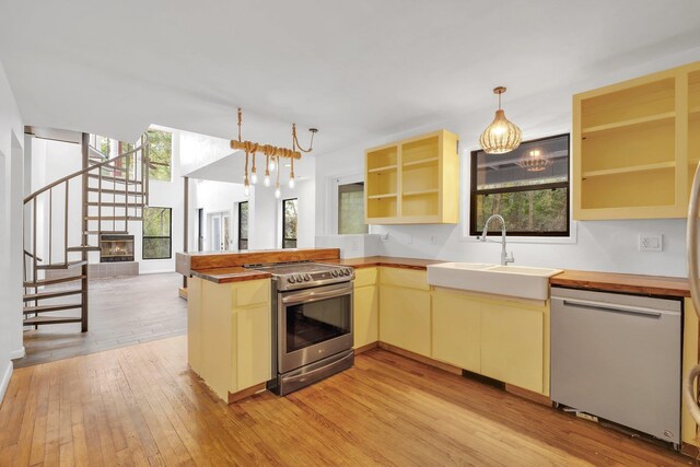
<path fill-rule="evenodd" d="M 270 280 L 190 278 L 188 362 L 223 400 L 271 378 Z"/>

